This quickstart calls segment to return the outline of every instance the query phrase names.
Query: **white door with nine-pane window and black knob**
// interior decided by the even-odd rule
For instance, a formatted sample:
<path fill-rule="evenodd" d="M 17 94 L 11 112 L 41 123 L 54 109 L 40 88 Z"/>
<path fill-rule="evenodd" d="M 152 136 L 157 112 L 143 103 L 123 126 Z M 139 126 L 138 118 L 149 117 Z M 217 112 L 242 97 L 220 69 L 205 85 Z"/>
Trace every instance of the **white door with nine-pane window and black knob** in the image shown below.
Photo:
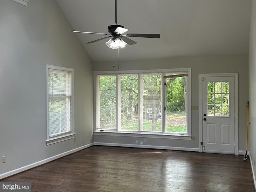
<path fill-rule="evenodd" d="M 202 152 L 235 153 L 234 76 L 202 79 Z"/>

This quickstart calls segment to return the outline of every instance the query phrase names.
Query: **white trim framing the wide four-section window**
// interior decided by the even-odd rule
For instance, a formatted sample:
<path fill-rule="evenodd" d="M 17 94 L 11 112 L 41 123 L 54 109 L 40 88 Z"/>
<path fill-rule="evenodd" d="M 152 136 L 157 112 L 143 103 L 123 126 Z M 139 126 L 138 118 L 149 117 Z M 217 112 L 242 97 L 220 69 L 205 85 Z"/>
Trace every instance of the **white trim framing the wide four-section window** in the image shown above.
<path fill-rule="evenodd" d="M 94 111 L 94 135 L 108 135 L 108 136 L 127 136 L 127 137 L 150 137 L 150 138 L 169 138 L 169 139 L 182 139 L 182 140 L 191 140 L 192 138 L 192 133 L 191 133 L 191 68 L 177 68 L 177 69 L 161 69 L 161 70 L 127 70 L 127 71 L 94 71 L 94 95 L 95 100 L 94 100 L 94 107 L 97 109 L 99 106 L 99 98 L 97 95 L 99 94 L 99 78 L 98 75 L 119 75 L 119 74 L 142 74 L 142 73 L 156 73 L 156 72 L 187 72 L 188 73 L 188 85 L 187 85 L 187 90 L 188 90 L 188 105 L 187 105 L 187 114 L 188 114 L 188 119 L 187 119 L 187 134 L 180 135 L 180 134 L 169 134 L 165 133 L 164 130 L 160 132 L 159 134 L 156 132 L 115 132 L 115 131 L 110 131 L 110 130 L 104 130 L 104 131 L 98 131 L 97 127 L 99 126 L 99 111 L 95 110 Z M 162 82 L 163 81 L 163 76 L 162 76 Z M 139 83 L 140 85 L 140 83 Z M 162 95 L 165 94 L 165 89 L 164 89 L 164 83 L 162 83 Z M 164 111 L 164 106 L 165 104 L 163 103 L 162 105 L 162 111 Z M 164 119 L 162 119 L 164 121 Z M 139 122 L 140 123 L 140 122 Z M 163 124 L 162 124 L 163 125 Z"/>

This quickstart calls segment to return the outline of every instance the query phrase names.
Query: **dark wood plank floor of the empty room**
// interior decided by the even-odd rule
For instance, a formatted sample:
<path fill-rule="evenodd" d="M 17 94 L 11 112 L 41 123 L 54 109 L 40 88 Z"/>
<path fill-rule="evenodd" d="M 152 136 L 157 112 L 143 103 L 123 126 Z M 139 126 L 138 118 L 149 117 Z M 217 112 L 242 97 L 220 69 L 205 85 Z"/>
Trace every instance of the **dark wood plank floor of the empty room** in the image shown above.
<path fill-rule="evenodd" d="M 2 181 L 32 192 L 254 192 L 243 156 L 92 146 Z"/>

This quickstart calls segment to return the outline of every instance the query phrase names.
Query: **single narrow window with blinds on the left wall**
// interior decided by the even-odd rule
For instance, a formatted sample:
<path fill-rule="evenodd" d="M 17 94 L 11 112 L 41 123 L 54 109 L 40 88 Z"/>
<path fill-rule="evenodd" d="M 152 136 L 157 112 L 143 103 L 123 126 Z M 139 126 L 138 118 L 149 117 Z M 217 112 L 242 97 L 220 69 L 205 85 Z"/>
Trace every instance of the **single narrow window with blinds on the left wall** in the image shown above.
<path fill-rule="evenodd" d="M 73 69 L 47 66 L 47 144 L 74 137 L 72 76 Z"/>

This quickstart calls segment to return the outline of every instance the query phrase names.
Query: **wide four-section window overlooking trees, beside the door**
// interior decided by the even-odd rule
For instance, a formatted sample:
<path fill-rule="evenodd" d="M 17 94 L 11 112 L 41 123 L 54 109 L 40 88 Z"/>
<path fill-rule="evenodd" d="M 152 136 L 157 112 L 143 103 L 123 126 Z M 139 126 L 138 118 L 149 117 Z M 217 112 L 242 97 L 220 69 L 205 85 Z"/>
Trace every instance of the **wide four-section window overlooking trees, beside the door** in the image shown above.
<path fill-rule="evenodd" d="M 94 73 L 96 131 L 191 136 L 190 69 Z"/>

